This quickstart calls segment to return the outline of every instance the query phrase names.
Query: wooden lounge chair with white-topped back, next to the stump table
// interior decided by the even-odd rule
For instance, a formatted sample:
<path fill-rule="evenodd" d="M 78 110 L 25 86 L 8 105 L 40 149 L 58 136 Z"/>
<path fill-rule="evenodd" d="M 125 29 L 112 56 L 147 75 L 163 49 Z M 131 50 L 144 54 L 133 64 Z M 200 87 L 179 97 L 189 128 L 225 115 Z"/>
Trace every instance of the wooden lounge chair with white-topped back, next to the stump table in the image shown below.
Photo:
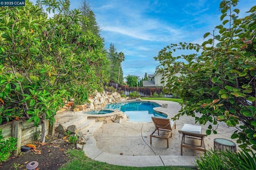
<path fill-rule="evenodd" d="M 200 150 L 206 153 L 206 148 L 204 144 L 204 137 L 205 134 L 201 134 L 202 127 L 196 126 L 196 125 L 190 125 L 190 124 L 184 124 L 181 130 L 178 130 L 180 134 L 182 134 L 182 140 L 180 144 L 180 155 L 182 155 L 182 148 L 189 148 L 193 150 Z M 192 138 L 196 140 L 200 140 L 201 144 L 200 146 L 196 144 L 188 144 L 185 143 L 185 138 Z"/>

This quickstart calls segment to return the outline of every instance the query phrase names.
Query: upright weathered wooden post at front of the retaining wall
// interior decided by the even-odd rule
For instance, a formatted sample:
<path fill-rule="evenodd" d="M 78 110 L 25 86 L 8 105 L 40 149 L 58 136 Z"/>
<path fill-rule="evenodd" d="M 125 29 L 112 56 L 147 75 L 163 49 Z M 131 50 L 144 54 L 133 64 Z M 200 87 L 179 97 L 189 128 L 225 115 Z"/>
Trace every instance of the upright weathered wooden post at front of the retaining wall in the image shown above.
<path fill-rule="evenodd" d="M 14 156 L 18 156 L 21 152 L 21 146 L 20 146 L 21 145 L 21 132 L 22 132 L 21 125 L 22 125 L 22 121 L 14 121 L 12 123 L 12 137 L 18 138 L 17 145 L 16 145 L 17 149 L 12 152 L 12 154 Z"/>

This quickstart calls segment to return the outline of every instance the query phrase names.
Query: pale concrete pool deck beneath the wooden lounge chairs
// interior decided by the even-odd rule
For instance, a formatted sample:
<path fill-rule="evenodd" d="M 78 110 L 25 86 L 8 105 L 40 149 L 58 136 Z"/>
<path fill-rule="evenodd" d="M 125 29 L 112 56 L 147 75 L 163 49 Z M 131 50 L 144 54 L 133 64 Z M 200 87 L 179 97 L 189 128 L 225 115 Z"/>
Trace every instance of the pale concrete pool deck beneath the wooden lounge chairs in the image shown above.
<path fill-rule="evenodd" d="M 169 119 L 174 117 L 180 110 L 180 105 L 176 102 L 158 100 L 152 102 L 160 105 L 167 103 L 167 108 L 156 107 L 154 109 L 167 114 Z M 82 113 L 74 114 L 72 111 L 64 114 L 69 114 L 69 119 L 72 116 L 83 116 Z M 56 115 L 57 123 L 61 122 L 60 118 Z M 89 158 L 108 164 L 136 167 L 194 166 L 195 158 L 203 156 L 203 152 L 184 148 L 183 156 L 180 155 L 182 135 L 178 133 L 178 130 L 182 128 L 184 123 L 195 125 L 193 117 L 182 116 L 179 120 L 176 120 L 176 129 L 172 131 L 172 137 L 169 139 L 169 148 L 167 148 L 166 140 L 158 138 L 152 138 L 152 144 L 150 144 L 150 134 L 154 130 L 152 122 L 133 123 L 126 121 L 103 125 L 100 125 L 100 122 L 96 122 L 95 125 L 84 131 L 86 144 L 84 144 L 83 150 Z M 202 133 L 205 134 L 208 125 L 199 126 L 202 127 Z M 213 128 L 215 127 L 213 126 Z M 211 134 L 204 138 L 206 149 L 214 147 L 214 138 L 230 140 L 234 130 L 236 129 L 227 127 L 225 123 L 220 122 L 217 129 L 218 134 Z M 236 142 L 236 140 L 233 141 Z M 188 142 L 194 142 L 194 140 Z M 198 142 L 200 143 L 200 141 Z"/>

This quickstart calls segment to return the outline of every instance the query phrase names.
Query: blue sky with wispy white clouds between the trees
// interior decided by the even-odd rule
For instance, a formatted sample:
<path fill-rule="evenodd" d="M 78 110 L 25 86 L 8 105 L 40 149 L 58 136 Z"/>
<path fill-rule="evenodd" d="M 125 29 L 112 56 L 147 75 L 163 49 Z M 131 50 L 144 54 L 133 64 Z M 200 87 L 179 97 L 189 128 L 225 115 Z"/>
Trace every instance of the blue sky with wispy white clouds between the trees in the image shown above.
<path fill-rule="evenodd" d="M 36 2 L 36 0 L 32 0 Z M 70 0 L 70 9 L 82 0 Z M 86 0 L 96 15 L 106 48 L 122 51 L 124 77 L 154 74 L 158 52 L 170 43 L 204 42 L 203 35 L 221 24 L 221 0 Z M 240 18 L 255 0 L 240 0 Z M 181 54 L 181 53 L 180 53 Z"/>

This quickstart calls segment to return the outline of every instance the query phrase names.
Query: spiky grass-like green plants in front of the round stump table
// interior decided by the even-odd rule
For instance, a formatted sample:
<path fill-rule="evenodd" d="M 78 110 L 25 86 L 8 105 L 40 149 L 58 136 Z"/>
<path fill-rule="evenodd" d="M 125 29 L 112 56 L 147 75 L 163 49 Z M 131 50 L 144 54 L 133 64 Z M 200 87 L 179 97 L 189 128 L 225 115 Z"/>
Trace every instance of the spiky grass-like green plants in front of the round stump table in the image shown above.
<path fill-rule="evenodd" d="M 204 156 L 196 160 L 199 170 L 255 170 L 256 157 L 251 150 L 232 153 L 230 151 L 214 152 L 207 150 Z"/>

